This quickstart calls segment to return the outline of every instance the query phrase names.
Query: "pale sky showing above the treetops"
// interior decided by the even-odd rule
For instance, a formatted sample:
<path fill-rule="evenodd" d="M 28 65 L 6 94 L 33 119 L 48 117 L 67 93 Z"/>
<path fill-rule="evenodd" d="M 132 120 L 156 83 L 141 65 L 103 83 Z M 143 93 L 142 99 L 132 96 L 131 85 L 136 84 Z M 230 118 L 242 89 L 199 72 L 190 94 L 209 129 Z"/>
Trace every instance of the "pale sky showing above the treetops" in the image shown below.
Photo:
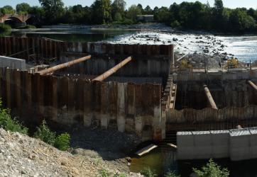
<path fill-rule="evenodd" d="M 62 0 L 65 3 L 65 6 L 74 6 L 77 4 L 82 4 L 82 6 L 90 6 L 94 0 Z M 155 6 L 170 6 L 174 2 L 180 4 L 183 0 L 125 0 L 127 6 L 131 6 L 132 4 L 142 4 L 143 7 L 149 5 L 151 8 Z M 194 0 L 184 0 L 194 2 Z M 206 3 L 207 0 L 199 0 L 202 3 Z M 22 2 L 26 2 L 31 6 L 39 6 L 38 0 L 0 0 L 0 7 L 5 5 L 11 5 L 13 7 L 16 4 L 20 4 Z M 209 4 L 212 6 L 214 4 L 214 0 L 209 0 Z M 225 7 L 236 8 L 236 7 L 246 7 L 246 8 L 257 8 L 257 0 L 223 0 L 223 4 Z"/>

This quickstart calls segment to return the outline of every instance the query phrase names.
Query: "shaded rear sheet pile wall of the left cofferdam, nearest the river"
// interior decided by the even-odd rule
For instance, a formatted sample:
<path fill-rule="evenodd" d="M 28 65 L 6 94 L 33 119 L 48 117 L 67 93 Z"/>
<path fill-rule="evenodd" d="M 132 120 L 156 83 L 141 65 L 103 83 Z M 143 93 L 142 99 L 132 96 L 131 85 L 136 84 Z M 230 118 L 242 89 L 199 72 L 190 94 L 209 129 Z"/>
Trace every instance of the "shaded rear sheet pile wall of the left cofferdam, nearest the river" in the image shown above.
<path fill-rule="evenodd" d="M 114 67 L 128 56 L 133 62 L 123 67 L 116 76 L 168 76 L 173 45 L 119 45 L 90 42 L 62 42 L 48 38 L 0 37 L 0 55 L 31 60 L 57 59 L 69 62 L 78 57 L 93 55 L 92 59 L 82 62 L 61 72 L 99 75 Z M 17 54 L 18 53 L 18 54 Z"/>

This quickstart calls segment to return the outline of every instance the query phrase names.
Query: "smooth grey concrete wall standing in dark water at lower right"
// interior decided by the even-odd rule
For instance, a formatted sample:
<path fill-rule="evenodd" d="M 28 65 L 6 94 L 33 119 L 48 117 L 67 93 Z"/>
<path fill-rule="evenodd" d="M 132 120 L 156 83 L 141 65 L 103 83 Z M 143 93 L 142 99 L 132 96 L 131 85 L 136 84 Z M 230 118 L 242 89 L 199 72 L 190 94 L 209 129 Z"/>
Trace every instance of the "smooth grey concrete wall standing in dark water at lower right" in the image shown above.
<path fill-rule="evenodd" d="M 240 130 L 177 132 L 177 159 L 257 159 L 256 127 Z"/>

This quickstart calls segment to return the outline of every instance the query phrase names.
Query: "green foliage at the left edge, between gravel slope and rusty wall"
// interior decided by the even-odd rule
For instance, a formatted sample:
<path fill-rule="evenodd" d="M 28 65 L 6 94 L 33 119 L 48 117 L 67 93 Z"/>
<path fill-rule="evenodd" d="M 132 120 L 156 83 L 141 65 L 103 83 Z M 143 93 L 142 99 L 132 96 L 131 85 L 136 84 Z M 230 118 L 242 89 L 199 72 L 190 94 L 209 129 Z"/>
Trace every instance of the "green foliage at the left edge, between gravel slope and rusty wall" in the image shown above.
<path fill-rule="evenodd" d="M 28 128 L 23 127 L 18 120 L 12 119 L 9 113 L 10 111 L 2 107 L 2 101 L 0 100 L 0 127 L 4 130 L 11 132 L 20 132 L 22 134 L 28 134 Z"/>

